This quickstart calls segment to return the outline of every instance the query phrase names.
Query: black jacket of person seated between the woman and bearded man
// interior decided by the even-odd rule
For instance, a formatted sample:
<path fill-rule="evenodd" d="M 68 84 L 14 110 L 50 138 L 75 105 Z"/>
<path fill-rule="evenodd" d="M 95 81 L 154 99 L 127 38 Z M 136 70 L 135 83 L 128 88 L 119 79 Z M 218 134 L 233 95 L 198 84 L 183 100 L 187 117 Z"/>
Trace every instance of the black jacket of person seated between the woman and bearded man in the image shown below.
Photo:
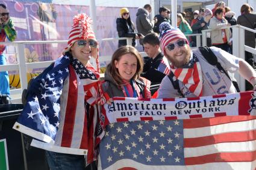
<path fill-rule="evenodd" d="M 150 58 L 143 67 L 143 73 L 140 76 L 145 77 L 151 81 L 151 85 L 161 83 L 166 74 L 157 70 L 161 60 L 163 59 L 163 53 L 159 53 L 154 59 Z"/>

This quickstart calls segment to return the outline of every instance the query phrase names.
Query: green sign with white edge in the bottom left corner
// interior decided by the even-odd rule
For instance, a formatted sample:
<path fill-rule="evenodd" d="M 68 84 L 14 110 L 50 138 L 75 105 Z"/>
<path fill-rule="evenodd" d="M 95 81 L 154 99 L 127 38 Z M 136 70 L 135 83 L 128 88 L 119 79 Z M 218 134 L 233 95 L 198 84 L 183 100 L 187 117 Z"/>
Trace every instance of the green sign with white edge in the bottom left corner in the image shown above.
<path fill-rule="evenodd" d="M 0 170 L 8 170 L 8 155 L 6 139 L 0 140 Z"/>

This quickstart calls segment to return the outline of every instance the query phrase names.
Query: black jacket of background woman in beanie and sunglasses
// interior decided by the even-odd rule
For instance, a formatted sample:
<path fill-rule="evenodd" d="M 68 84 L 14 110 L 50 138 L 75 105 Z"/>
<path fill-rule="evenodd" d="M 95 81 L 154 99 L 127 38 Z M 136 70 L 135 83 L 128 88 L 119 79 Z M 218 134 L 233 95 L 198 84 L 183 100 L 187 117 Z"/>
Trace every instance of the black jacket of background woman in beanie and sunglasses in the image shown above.
<path fill-rule="evenodd" d="M 133 43 L 132 45 L 135 46 L 135 27 L 133 22 L 131 24 L 128 24 L 126 19 L 118 17 L 116 19 L 116 29 L 118 32 L 119 37 L 130 37 L 133 38 Z M 118 41 L 118 47 L 120 46 L 126 46 L 126 40 L 119 40 Z"/>

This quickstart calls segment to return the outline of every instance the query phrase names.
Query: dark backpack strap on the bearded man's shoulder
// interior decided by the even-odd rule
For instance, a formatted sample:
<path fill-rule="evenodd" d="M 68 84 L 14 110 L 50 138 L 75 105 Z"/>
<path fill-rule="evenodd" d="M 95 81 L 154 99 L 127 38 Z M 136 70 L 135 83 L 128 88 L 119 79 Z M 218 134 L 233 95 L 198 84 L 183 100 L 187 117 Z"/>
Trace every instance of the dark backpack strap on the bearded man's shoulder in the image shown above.
<path fill-rule="evenodd" d="M 200 52 L 202 53 L 202 56 L 204 56 L 204 58 L 207 60 L 207 62 L 209 64 L 216 66 L 221 73 L 225 73 L 226 76 L 231 80 L 231 78 L 229 77 L 228 72 L 226 72 L 226 70 L 218 62 L 217 56 L 213 53 L 213 51 L 210 49 L 210 47 L 198 47 L 198 49 L 200 50 Z M 231 80 L 231 82 L 233 83 L 237 92 L 240 92 L 237 82 L 233 81 L 233 80 Z"/>

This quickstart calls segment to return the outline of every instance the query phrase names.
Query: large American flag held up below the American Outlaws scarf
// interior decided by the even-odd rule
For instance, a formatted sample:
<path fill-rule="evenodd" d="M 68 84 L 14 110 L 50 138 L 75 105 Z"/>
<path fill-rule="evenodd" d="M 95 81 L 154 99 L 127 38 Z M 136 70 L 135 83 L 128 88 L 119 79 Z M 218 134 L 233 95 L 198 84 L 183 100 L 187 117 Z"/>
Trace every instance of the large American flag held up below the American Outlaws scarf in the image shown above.
<path fill-rule="evenodd" d="M 253 116 L 109 124 L 99 169 L 255 169 Z"/>

